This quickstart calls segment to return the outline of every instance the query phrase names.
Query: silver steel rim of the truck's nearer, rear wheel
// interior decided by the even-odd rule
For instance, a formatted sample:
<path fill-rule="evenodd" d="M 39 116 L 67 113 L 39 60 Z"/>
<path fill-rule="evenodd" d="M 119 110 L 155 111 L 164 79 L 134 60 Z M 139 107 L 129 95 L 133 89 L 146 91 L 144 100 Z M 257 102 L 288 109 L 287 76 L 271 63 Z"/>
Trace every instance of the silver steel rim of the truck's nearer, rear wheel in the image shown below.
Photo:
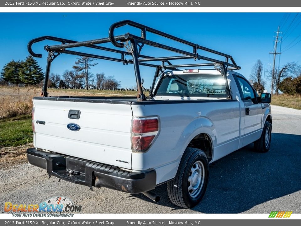
<path fill-rule="evenodd" d="M 188 176 L 188 192 L 192 198 L 199 195 L 205 181 L 205 167 L 201 161 L 196 161 L 190 169 Z"/>

